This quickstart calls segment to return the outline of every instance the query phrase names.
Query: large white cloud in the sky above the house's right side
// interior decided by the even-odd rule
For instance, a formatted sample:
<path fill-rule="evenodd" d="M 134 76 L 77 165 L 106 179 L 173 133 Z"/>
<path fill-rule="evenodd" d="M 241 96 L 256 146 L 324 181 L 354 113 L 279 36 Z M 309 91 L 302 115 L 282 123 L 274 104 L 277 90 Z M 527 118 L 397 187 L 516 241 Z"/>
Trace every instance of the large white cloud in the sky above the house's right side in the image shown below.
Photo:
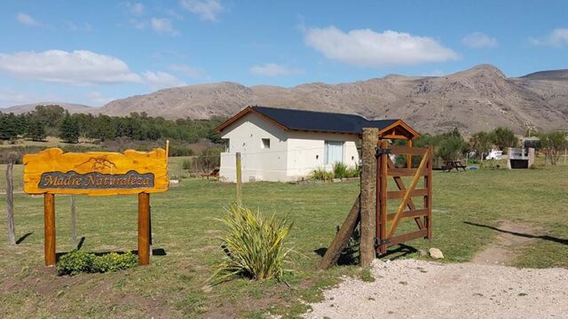
<path fill-rule="evenodd" d="M 453 60 L 458 54 L 428 36 L 387 30 L 355 29 L 347 33 L 337 27 L 308 28 L 305 43 L 353 66 L 401 66 Z"/>

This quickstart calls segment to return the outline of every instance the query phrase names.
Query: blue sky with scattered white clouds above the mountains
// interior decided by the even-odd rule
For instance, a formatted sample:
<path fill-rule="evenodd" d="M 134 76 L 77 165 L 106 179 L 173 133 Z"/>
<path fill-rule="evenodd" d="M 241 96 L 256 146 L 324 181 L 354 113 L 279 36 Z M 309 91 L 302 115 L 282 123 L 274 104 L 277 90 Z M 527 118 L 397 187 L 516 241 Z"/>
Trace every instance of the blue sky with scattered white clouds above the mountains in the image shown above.
<path fill-rule="evenodd" d="M 568 68 L 568 2 L 4 0 L 0 39 L 0 107 L 99 106 L 206 82 Z"/>

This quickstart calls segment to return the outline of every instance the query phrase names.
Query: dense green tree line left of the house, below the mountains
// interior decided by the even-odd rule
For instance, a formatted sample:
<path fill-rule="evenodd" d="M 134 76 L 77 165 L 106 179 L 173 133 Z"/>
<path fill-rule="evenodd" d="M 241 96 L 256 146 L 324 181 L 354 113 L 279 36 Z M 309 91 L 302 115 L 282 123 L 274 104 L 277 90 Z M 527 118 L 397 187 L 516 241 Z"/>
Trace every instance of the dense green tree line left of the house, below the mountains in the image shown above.
<path fill-rule="evenodd" d="M 130 113 L 122 117 L 70 114 L 59 105 L 37 105 L 34 111 L 28 113 L 0 113 L 0 139 L 26 137 L 42 141 L 46 136 L 59 136 L 65 142 L 77 143 L 81 137 L 101 142 L 129 137 L 139 141 L 170 138 L 193 143 L 200 138 L 208 138 L 219 143 L 220 138 L 213 128 L 221 121 L 223 119 L 220 118 L 172 121 L 146 113 Z"/>

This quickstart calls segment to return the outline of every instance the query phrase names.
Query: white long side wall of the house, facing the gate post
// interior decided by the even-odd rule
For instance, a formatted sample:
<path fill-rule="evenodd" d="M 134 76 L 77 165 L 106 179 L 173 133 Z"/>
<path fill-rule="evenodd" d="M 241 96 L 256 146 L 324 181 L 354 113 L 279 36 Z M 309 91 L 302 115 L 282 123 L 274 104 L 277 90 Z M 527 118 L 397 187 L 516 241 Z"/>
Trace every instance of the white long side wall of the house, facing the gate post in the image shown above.
<path fill-rule="evenodd" d="M 343 164 L 348 167 L 359 164 L 359 136 L 293 131 L 288 137 L 289 180 L 301 179 L 316 168 L 332 169 L 332 164 L 325 165 L 325 141 L 343 142 Z"/>

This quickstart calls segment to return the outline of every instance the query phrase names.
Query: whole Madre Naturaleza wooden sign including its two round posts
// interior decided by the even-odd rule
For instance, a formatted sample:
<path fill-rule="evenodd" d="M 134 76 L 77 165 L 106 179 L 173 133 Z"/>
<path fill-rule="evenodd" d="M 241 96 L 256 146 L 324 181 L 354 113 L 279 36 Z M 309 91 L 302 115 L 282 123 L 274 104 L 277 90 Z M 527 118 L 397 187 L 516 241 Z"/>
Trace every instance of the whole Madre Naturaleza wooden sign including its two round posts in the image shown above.
<path fill-rule="evenodd" d="M 168 191 L 166 150 L 64 153 L 51 148 L 24 156 L 24 191 L 43 194 L 45 266 L 55 266 L 55 194 L 138 194 L 138 264 L 150 263 L 150 193 Z"/>

